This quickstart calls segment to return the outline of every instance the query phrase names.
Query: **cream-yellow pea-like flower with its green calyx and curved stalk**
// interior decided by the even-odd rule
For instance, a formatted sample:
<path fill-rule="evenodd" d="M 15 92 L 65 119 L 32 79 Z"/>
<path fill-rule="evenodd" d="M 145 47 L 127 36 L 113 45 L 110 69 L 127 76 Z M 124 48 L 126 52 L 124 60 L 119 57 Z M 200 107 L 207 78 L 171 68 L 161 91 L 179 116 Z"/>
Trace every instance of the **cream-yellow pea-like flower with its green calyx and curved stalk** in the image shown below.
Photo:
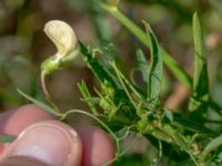
<path fill-rule="evenodd" d="M 44 32 L 56 45 L 57 52 L 41 64 L 41 86 L 46 100 L 56 110 L 59 110 L 47 89 L 46 76 L 60 69 L 64 63 L 77 58 L 79 54 L 79 48 L 77 46 L 78 40 L 73 29 L 68 23 L 60 20 L 47 22 Z"/>

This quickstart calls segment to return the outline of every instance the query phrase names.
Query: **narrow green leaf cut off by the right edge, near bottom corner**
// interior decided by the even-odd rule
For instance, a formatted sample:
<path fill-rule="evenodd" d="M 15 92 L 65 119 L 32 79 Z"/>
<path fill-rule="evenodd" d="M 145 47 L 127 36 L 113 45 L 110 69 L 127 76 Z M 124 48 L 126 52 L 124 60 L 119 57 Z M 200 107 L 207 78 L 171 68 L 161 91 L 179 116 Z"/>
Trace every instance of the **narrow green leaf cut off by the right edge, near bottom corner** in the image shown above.
<path fill-rule="evenodd" d="M 209 153 L 216 149 L 218 147 L 222 146 L 222 135 L 212 139 L 203 149 L 201 158 L 204 159 Z"/>

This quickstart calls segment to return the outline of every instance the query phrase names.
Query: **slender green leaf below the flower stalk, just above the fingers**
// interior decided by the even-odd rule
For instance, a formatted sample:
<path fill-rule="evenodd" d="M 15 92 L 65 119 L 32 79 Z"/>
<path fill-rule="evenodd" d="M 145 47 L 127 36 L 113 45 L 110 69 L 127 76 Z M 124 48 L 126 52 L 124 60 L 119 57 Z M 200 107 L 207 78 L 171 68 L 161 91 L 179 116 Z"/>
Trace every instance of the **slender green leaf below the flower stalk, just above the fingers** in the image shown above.
<path fill-rule="evenodd" d="M 36 105 L 38 105 L 39 107 L 43 108 L 44 111 L 56 115 L 56 116 L 59 116 L 61 117 L 62 114 L 57 112 L 56 110 L 53 110 L 52 107 L 46 105 L 43 102 L 40 102 L 31 96 L 29 96 L 28 94 L 23 93 L 22 91 L 20 90 L 17 90 L 22 96 L 24 96 L 27 100 L 31 101 L 32 103 L 34 103 Z"/>

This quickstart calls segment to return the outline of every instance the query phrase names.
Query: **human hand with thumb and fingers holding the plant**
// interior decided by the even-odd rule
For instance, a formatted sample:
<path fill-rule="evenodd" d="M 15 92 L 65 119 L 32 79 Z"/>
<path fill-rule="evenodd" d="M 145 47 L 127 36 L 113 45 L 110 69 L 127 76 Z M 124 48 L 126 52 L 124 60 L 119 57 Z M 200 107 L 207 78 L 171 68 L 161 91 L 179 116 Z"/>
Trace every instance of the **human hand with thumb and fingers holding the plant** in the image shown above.
<path fill-rule="evenodd" d="M 100 166 L 114 154 L 103 131 L 89 125 L 73 129 L 34 105 L 0 114 L 0 133 L 19 135 L 0 143 L 0 166 Z"/>

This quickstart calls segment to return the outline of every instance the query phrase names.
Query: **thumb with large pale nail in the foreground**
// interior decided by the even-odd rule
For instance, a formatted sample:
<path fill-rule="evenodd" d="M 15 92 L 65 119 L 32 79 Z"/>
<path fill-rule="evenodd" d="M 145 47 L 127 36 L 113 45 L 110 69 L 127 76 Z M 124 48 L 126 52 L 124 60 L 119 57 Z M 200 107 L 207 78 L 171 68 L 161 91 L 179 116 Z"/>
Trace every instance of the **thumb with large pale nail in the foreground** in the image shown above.
<path fill-rule="evenodd" d="M 78 133 L 61 122 L 46 121 L 26 128 L 3 152 L 0 166 L 78 166 L 81 158 Z"/>

